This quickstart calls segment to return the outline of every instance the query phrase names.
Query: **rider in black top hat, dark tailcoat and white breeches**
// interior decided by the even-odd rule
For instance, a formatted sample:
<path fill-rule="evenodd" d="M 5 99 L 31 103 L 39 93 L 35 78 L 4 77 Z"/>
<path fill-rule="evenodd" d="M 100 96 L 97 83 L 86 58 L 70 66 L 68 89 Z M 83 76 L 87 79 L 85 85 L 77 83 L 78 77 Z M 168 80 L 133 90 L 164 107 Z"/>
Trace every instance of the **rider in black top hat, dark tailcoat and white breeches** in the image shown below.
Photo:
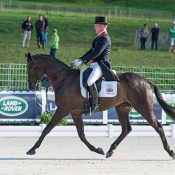
<path fill-rule="evenodd" d="M 72 67 L 78 67 L 82 63 L 90 63 L 93 69 L 88 80 L 87 85 L 89 87 L 89 93 L 92 97 L 91 112 L 97 112 L 99 110 L 98 105 L 98 90 L 95 85 L 95 81 L 102 75 L 107 81 L 116 81 L 117 77 L 110 70 L 110 50 L 111 40 L 107 33 L 107 17 L 97 16 L 95 18 L 94 29 L 97 37 L 92 42 L 92 48 L 79 59 L 72 62 Z"/>

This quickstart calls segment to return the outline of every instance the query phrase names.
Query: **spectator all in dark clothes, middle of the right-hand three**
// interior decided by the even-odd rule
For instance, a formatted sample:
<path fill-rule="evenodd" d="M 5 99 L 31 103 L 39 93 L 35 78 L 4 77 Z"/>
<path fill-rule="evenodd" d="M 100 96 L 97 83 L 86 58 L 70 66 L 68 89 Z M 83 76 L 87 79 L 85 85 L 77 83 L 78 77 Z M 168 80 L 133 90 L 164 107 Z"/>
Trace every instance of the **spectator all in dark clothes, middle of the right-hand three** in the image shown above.
<path fill-rule="evenodd" d="M 151 29 L 151 34 L 151 49 L 157 51 L 159 38 L 159 28 L 157 23 L 155 23 L 154 27 Z"/>

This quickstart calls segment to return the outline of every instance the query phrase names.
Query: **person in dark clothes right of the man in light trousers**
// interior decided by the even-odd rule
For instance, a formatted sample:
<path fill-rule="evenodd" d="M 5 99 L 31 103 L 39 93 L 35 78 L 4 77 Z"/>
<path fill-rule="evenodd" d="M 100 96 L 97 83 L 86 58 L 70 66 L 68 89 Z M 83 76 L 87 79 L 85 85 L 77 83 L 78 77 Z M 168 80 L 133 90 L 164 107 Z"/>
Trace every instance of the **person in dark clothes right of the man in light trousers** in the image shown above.
<path fill-rule="evenodd" d="M 39 15 L 38 20 L 35 22 L 35 30 L 36 30 L 38 48 L 40 48 L 42 45 L 44 49 L 44 41 L 43 41 L 44 20 L 42 15 Z"/>

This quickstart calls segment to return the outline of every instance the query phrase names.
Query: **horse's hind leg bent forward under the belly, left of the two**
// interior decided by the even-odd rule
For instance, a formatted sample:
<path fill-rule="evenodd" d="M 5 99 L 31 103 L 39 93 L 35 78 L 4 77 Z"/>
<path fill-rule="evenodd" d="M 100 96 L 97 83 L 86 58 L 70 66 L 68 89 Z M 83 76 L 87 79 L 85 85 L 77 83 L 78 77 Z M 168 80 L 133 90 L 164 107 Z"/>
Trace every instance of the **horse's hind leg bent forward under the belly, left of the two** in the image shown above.
<path fill-rule="evenodd" d="M 116 111 L 118 113 L 118 119 L 122 127 L 122 132 L 120 136 L 112 143 L 109 151 L 106 153 L 106 158 L 112 156 L 113 151 L 116 149 L 119 143 L 131 132 L 132 128 L 129 122 L 129 115 L 128 115 L 130 110 L 131 110 L 130 107 L 122 105 L 116 107 Z"/>

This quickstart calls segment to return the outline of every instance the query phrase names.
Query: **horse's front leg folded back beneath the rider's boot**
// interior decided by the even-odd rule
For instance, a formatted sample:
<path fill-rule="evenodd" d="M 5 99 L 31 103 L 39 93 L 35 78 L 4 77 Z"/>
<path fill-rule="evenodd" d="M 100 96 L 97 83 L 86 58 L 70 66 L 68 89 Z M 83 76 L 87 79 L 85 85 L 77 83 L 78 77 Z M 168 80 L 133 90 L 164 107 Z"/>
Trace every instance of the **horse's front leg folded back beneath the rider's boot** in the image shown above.
<path fill-rule="evenodd" d="M 76 125 L 77 128 L 77 132 L 78 132 L 78 136 L 80 137 L 81 141 L 91 150 L 94 151 L 98 154 L 102 154 L 104 155 L 104 151 L 102 148 L 95 148 L 93 145 L 91 145 L 84 134 L 84 124 L 83 124 L 83 120 L 82 120 L 82 116 L 81 115 L 74 115 L 72 114 L 72 118 L 74 120 L 74 123 Z"/>

